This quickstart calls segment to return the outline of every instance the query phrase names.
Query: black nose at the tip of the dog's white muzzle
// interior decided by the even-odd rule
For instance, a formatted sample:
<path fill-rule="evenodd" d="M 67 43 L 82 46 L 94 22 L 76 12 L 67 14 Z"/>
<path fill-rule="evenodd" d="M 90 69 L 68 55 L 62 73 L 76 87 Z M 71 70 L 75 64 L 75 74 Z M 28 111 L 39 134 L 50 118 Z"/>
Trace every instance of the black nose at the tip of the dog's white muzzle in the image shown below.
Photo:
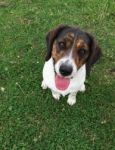
<path fill-rule="evenodd" d="M 59 69 L 60 73 L 62 76 L 69 76 L 71 75 L 72 71 L 73 71 L 73 68 L 71 65 L 67 65 L 67 64 L 62 64 L 60 66 L 60 69 Z"/>

